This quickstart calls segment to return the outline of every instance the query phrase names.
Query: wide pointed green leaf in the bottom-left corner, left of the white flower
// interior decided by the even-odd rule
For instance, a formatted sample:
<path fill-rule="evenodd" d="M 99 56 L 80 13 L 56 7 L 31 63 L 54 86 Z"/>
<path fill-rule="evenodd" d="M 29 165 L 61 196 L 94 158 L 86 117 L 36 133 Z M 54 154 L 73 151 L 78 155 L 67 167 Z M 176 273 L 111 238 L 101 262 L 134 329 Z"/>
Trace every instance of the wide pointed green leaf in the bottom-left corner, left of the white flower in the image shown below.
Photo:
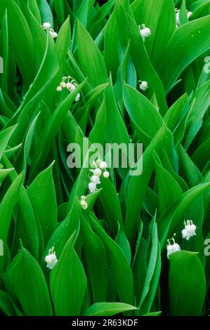
<path fill-rule="evenodd" d="M 9 296 L 14 302 L 20 303 L 25 315 L 52 315 L 51 298 L 44 275 L 26 249 L 22 248 L 9 265 L 4 283 Z"/>

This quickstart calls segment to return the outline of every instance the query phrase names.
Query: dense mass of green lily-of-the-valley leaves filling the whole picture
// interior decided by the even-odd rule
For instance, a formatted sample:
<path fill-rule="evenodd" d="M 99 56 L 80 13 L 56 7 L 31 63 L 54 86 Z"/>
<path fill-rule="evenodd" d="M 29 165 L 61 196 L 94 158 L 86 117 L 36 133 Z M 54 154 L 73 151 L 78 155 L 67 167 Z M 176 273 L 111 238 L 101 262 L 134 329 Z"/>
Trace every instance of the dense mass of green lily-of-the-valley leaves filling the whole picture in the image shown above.
<path fill-rule="evenodd" d="M 1 0 L 0 27 L 2 314 L 208 315 L 210 1 Z M 85 137 L 144 152 L 140 176 L 111 169 L 83 211 L 88 169 L 70 170 L 66 150 Z"/>

